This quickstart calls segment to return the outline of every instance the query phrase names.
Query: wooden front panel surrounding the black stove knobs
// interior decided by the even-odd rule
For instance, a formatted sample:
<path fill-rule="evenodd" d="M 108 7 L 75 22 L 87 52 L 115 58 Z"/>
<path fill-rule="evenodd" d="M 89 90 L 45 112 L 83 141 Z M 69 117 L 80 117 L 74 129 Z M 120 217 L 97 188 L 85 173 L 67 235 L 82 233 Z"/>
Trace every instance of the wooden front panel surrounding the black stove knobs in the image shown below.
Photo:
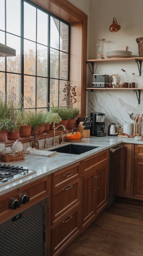
<path fill-rule="evenodd" d="M 7 219 L 7 217 L 11 217 L 14 214 L 17 214 L 18 212 L 48 196 L 50 193 L 50 178 L 51 176 L 44 177 L 28 185 L 13 190 L 5 195 L 2 195 L 0 197 L 0 221 L 4 221 Z M 26 194 L 30 197 L 29 203 L 21 204 L 21 206 L 16 210 L 12 209 L 10 207 L 10 198 L 17 199 L 19 201 L 21 194 Z"/>

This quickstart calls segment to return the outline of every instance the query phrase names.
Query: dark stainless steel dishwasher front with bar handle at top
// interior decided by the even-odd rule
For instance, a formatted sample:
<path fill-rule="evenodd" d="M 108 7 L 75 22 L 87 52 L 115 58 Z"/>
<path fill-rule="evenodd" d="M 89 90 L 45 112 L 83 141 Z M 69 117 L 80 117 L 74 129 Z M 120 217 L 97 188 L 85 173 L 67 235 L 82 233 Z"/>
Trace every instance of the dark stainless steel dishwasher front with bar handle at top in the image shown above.
<path fill-rule="evenodd" d="M 119 174 L 122 145 L 110 148 L 109 154 L 109 189 L 108 208 L 115 202 L 119 194 Z"/>

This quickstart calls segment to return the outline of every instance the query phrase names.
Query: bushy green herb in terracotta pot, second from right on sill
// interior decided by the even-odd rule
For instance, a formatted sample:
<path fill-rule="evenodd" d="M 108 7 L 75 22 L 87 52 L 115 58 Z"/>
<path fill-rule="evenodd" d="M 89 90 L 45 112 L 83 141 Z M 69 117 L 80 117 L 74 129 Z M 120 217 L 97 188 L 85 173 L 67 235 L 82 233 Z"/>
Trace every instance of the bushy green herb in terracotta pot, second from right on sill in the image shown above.
<path fill-rule="evenodd" d="M 59 124 L 64 125 L 65 128 L 67 127 L 68 119 L 69 119 L 69 111 L 67 107 L 51 107 L 50 110 L 53 113 L 58 113 L 61 118 L 61 122 Z M 58 125 L 56 124 L 55 127 Z M 50 126 L 50 129 L 52 126 Z M 60 129 L 60 128 L 59 128 Z"/>

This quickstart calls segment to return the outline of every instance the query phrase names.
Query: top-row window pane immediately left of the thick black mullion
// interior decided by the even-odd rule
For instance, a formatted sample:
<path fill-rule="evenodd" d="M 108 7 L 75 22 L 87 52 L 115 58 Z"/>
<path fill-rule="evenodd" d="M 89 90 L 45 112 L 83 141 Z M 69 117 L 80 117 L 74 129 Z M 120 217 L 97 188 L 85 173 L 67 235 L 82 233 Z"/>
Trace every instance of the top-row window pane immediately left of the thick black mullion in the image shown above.
<path fill-rule="evenodd" d="M 20 0 L 6 0 L 6 30 L 20 35 Z"/>

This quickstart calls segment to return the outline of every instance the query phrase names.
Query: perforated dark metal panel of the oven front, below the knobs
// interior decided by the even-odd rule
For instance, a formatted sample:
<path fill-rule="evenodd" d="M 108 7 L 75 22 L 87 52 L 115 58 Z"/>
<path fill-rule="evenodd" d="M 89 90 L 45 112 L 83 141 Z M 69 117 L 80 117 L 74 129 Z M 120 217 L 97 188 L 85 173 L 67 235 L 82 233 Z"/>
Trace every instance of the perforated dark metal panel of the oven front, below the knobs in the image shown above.
<path fill-rule="evenodd" d="M 44 205 L 0 231 L 0 256 L 43 255 Z"/>

